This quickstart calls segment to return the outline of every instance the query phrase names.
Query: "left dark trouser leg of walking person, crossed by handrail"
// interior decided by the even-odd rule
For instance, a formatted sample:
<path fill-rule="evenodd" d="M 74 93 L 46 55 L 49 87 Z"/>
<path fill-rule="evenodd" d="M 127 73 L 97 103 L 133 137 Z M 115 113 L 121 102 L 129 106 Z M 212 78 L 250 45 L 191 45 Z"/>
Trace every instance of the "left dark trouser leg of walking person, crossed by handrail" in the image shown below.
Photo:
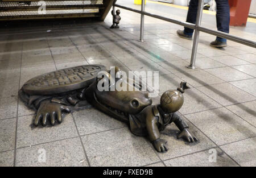
<path fill-rule="evenodd" d="M 186 22 L 193 23 L 193 24 L 196 23 L 197 6 L 198 6 L 198 0 L 191 0 L 189 2 Z M 191 35 L 192 36 L 193 32 L 194 32 L 194 30 L 192 28 L 184 27 L 184 34 L 185 35 Z"/>

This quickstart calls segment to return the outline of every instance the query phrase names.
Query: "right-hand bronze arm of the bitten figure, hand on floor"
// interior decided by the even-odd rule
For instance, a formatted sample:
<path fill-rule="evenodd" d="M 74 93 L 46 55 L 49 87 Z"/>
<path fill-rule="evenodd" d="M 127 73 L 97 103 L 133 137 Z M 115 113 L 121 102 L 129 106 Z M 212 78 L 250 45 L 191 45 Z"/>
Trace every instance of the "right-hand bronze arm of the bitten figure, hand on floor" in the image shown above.
<path fill-rule="evenodd" d="M 172 114 L 172 121 L 179 128 L 181 133 L 177 136 L 177 138 L 183 138 L 187 142 L 196 142 L 197 138 L 193 135 L 189 129 L 187 123 L 181 119 L 180 115 L 177 113 Z"/>

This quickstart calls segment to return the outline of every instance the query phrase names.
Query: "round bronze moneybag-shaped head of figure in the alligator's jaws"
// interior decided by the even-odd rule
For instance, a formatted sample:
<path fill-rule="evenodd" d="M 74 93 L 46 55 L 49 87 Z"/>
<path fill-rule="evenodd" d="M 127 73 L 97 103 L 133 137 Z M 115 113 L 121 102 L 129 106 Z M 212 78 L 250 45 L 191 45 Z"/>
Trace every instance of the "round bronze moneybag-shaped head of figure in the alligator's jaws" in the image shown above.
<path fill-rule="evenodd" d="M 160 106 L 166 113 L 178 111 L 183 102 L 183 95 L 178 90 L 167 90 L 160 98 Z"/>

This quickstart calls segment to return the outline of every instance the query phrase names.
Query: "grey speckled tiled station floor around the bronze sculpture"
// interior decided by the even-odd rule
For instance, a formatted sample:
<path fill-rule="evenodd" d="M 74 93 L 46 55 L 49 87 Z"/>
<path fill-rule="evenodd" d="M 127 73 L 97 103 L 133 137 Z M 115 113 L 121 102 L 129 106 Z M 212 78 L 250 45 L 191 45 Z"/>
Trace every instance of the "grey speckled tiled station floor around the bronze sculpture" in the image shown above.
<path fill-rule="evenodd" d="M 208 43 L 214 37 L 201 33 L 197 69 L 188 69 L 193 42 L 176 36 L 180 26 L 146 17 L 141 43 L 139 15 L 121 10 L 121 16 L 121 28 L 115 30 L 109 28 L 110 15 L 105 22 L 1 30 L 0 165 L 255 166 L 256 50 L 233 42 L 212 48 Z M 230 31 L 255 40 L 251 26 L 255 29 L 247 23 Z M 35 112 L 18 99 L 18 89 L 39 74 L 82 64 L 159 71 L 160 94 L 187 81 L 191 89 L 184 93 L 180 113 L 199 142 L 176 139 L 177 127 L 171 125 L 162 133 L 169 151 L 159 154 L 125 123 L 93 107 L 66 115 L 60 125 L 34 128 Z M 42 148 L 46 162 L 39 159 Z"/>

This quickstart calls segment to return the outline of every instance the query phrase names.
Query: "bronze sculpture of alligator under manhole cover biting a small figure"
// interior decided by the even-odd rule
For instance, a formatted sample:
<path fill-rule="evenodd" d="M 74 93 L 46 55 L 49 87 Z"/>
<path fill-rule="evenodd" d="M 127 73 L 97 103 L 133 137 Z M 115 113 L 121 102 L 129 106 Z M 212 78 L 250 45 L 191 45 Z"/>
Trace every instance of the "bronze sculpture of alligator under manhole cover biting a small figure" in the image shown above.
<path fill-rule="evenodd" d="M 97 73 L 106 71 L 108 76 L 97 77 Z M 115 74 L 121 72 L 117 67 Z M 148 92 L 141 91 L 141 84 L 130 84 L 128 80 L 115 75 L 115 83 L 120 81 L 123 86 L 134 88 L 125 90 L 98 90 L 98 84 L 111 80 L 110 72 L 102 65 L 83 65 L 44 74 L 32 78 L 23 85 L 19 96 L 29 107 L 37 110 L 34 125 L 47 122 L 55 125 L 61 123 L 62 112 L 83 109 L 88 103 L 98 110 L 126 122 L 133 134 L 148 136 L 155 149 L 167 151 L 166 140 L 160 139 L 160 131 L 174 122 L 181 133 L 177 138 L 187 142 L 195 142 L 197 138 L 188 130 L 188 125 L 181 119 L 177 111 L 183 105 L 183 94 L 186 87 L 181 82 L 177 90 L 167 90 L 160 98 L 160 104 L 152 105 Z M 110 88 L 109 85 L 107 88 Z M 138 90 L 135 90 L 137 88 Z"/>

